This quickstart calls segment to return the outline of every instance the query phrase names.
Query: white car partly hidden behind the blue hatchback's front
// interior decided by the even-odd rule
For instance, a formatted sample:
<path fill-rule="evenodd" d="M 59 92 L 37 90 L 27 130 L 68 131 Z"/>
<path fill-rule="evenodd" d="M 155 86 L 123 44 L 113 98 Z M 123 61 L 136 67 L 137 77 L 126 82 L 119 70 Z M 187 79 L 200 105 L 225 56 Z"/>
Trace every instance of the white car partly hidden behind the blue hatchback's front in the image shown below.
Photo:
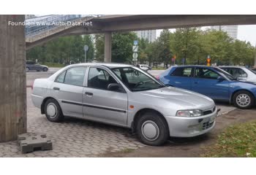
<path fill-rule="evenodd" d="M 229 74 L 236 77 L 238 80 L 246 82 L 256 82 L 256 73 L 243 66 L 219 66 L 220 69 L 227 71 Z"/>

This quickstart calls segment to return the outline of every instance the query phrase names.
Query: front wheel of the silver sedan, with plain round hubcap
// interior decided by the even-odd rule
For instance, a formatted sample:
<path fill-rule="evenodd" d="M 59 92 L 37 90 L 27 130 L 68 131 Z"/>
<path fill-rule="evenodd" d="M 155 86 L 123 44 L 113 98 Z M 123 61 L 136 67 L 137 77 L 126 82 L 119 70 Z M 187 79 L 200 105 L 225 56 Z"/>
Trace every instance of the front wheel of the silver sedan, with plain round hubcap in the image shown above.
<path fill-rule="evenodd" d="M 170 138 L 168 125 L 157 112 L 146 112 L 135 125 L 138 139 L 143 144 L 160 146 Z"/>

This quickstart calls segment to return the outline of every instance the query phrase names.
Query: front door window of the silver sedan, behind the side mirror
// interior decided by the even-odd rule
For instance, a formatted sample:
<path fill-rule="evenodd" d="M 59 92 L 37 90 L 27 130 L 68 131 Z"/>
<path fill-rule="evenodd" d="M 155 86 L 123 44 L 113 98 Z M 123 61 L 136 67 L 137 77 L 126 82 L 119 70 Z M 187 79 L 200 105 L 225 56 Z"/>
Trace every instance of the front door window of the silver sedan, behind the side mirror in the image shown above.
<path fill-rule="evenodd" d="M 111 83 L 118 83 L 108 71 L 100 68 L 91 67 L 88 76 L 88 87 L 108 90 L 108 85 Z"/>

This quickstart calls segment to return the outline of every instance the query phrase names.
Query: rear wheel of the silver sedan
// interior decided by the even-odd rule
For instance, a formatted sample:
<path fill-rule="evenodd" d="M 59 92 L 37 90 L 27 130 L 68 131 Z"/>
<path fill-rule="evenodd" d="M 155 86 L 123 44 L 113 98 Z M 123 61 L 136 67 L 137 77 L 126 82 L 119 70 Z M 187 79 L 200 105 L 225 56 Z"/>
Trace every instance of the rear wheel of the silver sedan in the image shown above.
<path fill-rule="evenodd" d="M 45 116 L 50 122 L 61 122 L 64 120 L 64 116 L 61 111 L 61 106 L 59 106 L 59 103 L 54 100 L 53 98 L 48 99 L 48 101 L 45 102 Z"/>

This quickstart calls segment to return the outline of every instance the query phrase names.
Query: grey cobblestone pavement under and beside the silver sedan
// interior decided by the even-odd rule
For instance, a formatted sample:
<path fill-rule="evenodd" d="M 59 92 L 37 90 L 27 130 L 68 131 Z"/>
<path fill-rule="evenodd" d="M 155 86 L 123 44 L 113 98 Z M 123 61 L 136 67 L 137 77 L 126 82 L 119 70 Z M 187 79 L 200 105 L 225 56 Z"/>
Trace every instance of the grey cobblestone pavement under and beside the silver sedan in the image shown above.
<path fill-rule="evenodd" d="M 28 104 L 31 104 L 28 98 Z M 235 109 L 218 105 L 222 113 Z M 0 144 L 0 157 L 97 157 L 106 152 L 145 147 L 128 129 L 67 118 L 63 123 L 50 123 L 40 110 L 29 105 L 28 132 L 46 133 L 53 142 L 53 150 L 22 154 L 17 141 Z"/>

